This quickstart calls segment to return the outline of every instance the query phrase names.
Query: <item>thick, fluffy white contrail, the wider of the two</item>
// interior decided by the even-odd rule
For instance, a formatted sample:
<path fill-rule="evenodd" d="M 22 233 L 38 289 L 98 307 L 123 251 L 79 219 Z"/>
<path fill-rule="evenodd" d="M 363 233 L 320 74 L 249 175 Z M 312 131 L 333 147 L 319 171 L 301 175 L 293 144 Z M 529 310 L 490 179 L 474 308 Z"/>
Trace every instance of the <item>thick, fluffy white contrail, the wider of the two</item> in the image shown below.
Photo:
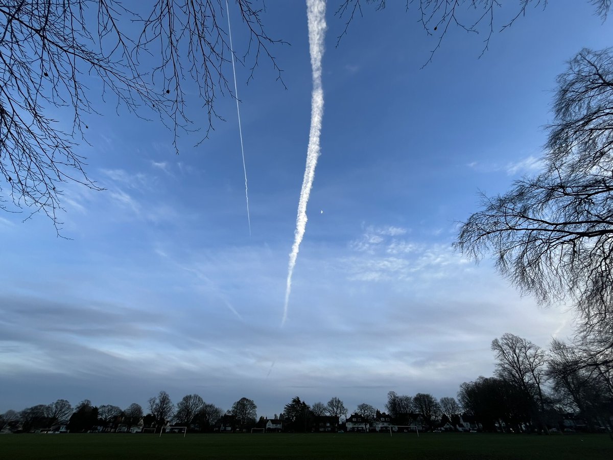
<path fill-rule="evenodd" d="M 287 286 L 285 291 L 285 304 L 283 306 L 283 320 L 287 320 L 287 304 L 292 289 L 292 274 L 296 266 L 300 243 L 307 228 L 307 203 L 315 177 L 315 167 L 319 156 L 319 134 L 321 133 L 321 120 L 324 116 L 324 90 L 321 86 L 321 58 L 324 56 L 324 36 L 326 35 L 326 0 L 307 0 L 308 42 L 311 53 L 311 69 L 313 69 L 313 95 L 311 96 L 311 131 L 309 132 L 307 148 L 307 167 L 302 180 L 300 200 L 298 202 L 298 215 L 294 231 L 294 245 L 289 254 L 289 267 L 287 269 Z"/>

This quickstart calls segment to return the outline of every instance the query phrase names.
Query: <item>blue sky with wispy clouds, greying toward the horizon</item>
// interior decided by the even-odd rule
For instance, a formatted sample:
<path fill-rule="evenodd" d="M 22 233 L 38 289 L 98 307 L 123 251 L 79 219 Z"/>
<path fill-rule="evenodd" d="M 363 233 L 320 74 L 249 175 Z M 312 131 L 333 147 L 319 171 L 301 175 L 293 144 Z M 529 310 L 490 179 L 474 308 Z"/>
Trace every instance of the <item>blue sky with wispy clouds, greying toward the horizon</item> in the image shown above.
<path fill-rule="evenodd" d="M 268 417 L 294 396 L 383 410 L 388 391 L 455 396 L 492 375 L 505 332 L 541 347 L 571 336 L 568 305 L 537 305 L 451 245 L 479 191 L 538 172 L 555 78 L 581 48 L 611 45 L 611 21 L 587 1 L 549 2 L 482 55 L 483 34 L 450 29 L 423 67 L 437 37 L 398 3 L 365 5 L 336 47 L 346 18 L 329 0 L 321 155 L 283 324 L 311 124 L 304 2 L 262 13 L 289 42 L 271 48 L 287 89 L 265 59 L 248 84 L 237 65 L 251 234 L 234 99 L 179 155 L 164 126 L 98 101 L 77 151 L 105 190 L 66 186 L 65 238 L 44 215 L 0 213 L 0 413 L 145 407 L 161 390 L 224 410 L 248 397 Z M 503 3 L 501 17 L 515 4 Z M 196 93 L 188 102 L 205 123 Z"/>

